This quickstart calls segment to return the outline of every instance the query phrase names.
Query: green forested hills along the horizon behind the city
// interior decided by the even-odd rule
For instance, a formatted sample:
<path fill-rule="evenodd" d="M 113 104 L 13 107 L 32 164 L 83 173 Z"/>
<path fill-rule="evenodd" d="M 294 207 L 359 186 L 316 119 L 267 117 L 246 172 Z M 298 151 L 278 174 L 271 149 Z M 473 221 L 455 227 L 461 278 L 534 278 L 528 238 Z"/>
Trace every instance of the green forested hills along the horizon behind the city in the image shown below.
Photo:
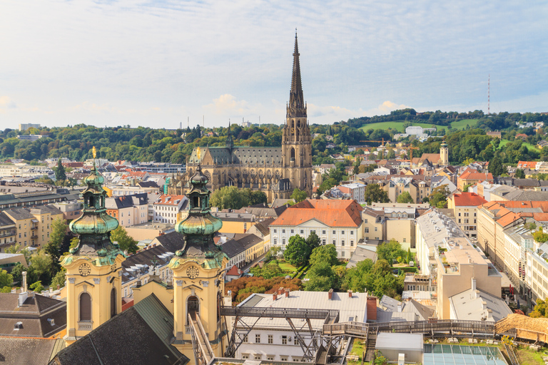
<path fill-rule="evenodd" d="M 322 159 L 329 159 L 329 154 L 345 152 L 347 145 L 360 145 L 364 140 L 390 140 L 395 133 L 401 133 L 407 125 L 423 125 L 437 130 L 433 135 L 450 135 L 457 130 L 473 130 L 476 135 L 484 134 L 486 130 L 504 130 L 503 140 L 513 141 L 516 133 L 528 135 L 529 149 L 544 138 L 548 132 L 548 123 L 540 131 L 533 128 L 519 129 L 516 122 L 527 123 L 544 121 L 548 122 L 548 114 L 544 113 L 498 113 L 484 115 L 482 111 L 475 110 L 470 113 L 435 112 L 417 113 L 413 109 L 395 110 L 388 115 L 375 117 L 353 118 L 347 121 L 333 123 L 333 125 L 310 125 L 310 132 L 320 134 L 313 140 L 313 155 Z M 242 128 L 240 125 L 232 125 L 230 133 L 235 145 L 249 145 L 253 147 L 276 147 L 282 143 L 283 125 L 263 124 Z M 116 128 L 96 128 L 92 125 L 73 125 L 60 128 L 31 128 L 24 132 L 6 128 L 0 131 L 0 159 L 20 158 L 28 161 L 44 160 L 46 158 L 70 158 L 71 160 L 86 160 L 91 158 L 91 148 L 96 146 L 98 157 L 115 160 L 156 161 L 184 163 L 196 146 L 223 146 L 225 145 L 228 128 L 194 128 L 166 130 L 152 128 L 129 128 L 129 126 Z M 39 140 L 20 140 L 17 135 L 43 135 Z M 332 135 L 335 148 L 326 150 L 328 141 L 321 135 Z M 470 134 L 470 133 L 467 133 Z M 462 136 L 461 136 L 462 137 Z M 461 141 L 462 142 L 462 141 Z M 503 141 L 504 142 L 504 141 Z M 481 146 L 481 147 L 480 147 Z M 451 146 L 450 146 L 451 147 Z M 476 144 L 484 150 L 482 143 Z M 517 146 L 517 149 L 522 146 Z M 435 150 L 437 146 L 426 143 L 424 151 Z M 457 155 L 460 148 L 455 145 L 455 155 L 451 156 L 455 161 L 462 160 L 462 154 Z M 474 157 L 470 151 L 468 157 Z M 522 149 L 522 156 L 527 155 Z M 538 153 L 530 153 L 530 157 L 536 157 Z M 485 154 L 484 154 L 485 155 Z M 518 155 L 515 157 L 517 158 Z M 487 156 L 485 156 L 487 157 Z M 511 158 L 515 160 L 515 158 Z"/>

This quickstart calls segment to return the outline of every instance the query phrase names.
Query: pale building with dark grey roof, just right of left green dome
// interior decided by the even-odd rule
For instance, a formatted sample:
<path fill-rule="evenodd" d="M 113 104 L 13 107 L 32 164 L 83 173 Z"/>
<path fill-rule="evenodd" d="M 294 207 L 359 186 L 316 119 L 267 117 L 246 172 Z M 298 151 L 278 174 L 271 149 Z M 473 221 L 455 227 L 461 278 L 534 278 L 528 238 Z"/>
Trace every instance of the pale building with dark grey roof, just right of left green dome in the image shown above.
<path fill-rule="evenodd" d="M 115 217 L 122 227 L 148 222 L 147 194 L 107 197 L 105 207 L 106 213 Z"/>

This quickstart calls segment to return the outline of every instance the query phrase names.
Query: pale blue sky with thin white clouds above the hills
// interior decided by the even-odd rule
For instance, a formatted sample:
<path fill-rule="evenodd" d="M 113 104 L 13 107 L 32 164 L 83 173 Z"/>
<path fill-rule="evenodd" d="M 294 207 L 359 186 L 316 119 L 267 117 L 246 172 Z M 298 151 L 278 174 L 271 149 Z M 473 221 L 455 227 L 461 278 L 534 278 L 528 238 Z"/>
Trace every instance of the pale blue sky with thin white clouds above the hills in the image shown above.
<path fill-rule="evenodd" d="M 0 128 L 548 112 L 548 2 L 0 1 Z"/>

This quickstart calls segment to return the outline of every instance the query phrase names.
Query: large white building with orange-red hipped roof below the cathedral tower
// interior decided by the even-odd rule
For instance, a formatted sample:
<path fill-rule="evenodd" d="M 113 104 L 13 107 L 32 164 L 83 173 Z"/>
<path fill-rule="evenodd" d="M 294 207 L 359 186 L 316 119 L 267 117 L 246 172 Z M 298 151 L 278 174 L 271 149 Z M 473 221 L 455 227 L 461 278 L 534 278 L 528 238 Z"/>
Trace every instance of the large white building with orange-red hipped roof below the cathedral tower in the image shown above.
<path fill-rule="evenodd" d="M 321 245 L 333 244 L 338 258 L 350 259 L 364 237 L 362 210 L 355 200 L 304 200 L 270 223 L 270 242 L 285 250 L 291 236 L 315 232 Z"/>

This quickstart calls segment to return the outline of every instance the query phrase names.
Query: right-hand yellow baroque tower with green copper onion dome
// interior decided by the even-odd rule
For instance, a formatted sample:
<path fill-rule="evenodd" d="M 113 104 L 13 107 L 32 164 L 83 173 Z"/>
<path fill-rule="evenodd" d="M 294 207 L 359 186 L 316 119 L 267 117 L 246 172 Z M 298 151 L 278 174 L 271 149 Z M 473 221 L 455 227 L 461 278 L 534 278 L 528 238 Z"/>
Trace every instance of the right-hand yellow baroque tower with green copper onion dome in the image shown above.
<path fill-rule="evenodd" d="M 175 283 L 173 345 L 194 359 L 193 332 L 203 329 L 201 334 L 210 342 L 213 354 L 223 356 L 226 327 L 221 322 L 220 306 L 228 256 L 213 242 L 213 235 L 223 227 L 223 222 L 210 213 L 210 191 L 205 187 L 208 178 L 199 164 L 190 183 L 188 216 L 175 226 L 184 235 L 185 243 L 169 263 Z"/>

